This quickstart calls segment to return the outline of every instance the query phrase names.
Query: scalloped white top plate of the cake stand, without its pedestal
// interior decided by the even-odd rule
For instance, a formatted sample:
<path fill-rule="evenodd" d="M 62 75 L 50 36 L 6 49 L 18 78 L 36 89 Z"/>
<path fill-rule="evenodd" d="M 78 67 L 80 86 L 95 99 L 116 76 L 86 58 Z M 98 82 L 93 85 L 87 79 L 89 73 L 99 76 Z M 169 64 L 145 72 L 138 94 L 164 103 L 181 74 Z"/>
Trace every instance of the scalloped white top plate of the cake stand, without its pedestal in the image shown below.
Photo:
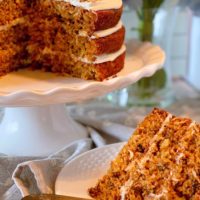
<path fill-rule="evenodd" d="M 29 106 L 80 102 L 104 95 L 153 75 L 165 54 L 150 43 L 130 43 L 124 69 L 103 82 L 66 78 L 53 73 L 20 70 L 0 78 L 0 106 Z M 84 95 L 83 95 L 84 94 Z"/>

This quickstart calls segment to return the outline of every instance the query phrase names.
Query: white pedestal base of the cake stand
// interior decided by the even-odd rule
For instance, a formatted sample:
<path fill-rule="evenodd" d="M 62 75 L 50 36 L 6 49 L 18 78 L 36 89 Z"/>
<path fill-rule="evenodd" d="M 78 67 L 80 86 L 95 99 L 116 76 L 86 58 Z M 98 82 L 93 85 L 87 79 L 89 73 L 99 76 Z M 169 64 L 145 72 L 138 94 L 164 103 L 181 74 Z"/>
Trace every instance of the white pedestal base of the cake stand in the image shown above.
<path fill-rule="evenodd" d="M 64 104 L 6 108 L 0 130 L 0 153 L 9 156 L 47 156 L 88 136 Z"/>

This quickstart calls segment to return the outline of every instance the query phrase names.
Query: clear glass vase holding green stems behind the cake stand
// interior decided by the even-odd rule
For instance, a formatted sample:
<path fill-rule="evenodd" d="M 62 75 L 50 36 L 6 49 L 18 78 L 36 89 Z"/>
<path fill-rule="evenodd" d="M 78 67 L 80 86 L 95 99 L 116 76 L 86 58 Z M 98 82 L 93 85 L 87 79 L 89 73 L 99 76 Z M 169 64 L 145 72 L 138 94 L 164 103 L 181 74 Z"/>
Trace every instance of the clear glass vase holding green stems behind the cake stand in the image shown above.
<path fill-rule="evenodd" d="M 134 17 L 137 18 L 137 21 L 132 27 L 130 19 L 128 19 L 133 18 L 130 12 L 134 11 L 128 9 L 123 16 L 127 28 L 126 42 L 129 42 L 132 37 L 137 37 L 140 41 L 157 44 L 166 52 L 166 62 L 163 68 L 152 77 L 142 78 L 127 88 L 109 94 L 107 98 L 118 106 L 166 107 L 174 101 L 170 49 L 177 9 L 148 9 L 142 11 L 142 16 L 135 13 Z"/>

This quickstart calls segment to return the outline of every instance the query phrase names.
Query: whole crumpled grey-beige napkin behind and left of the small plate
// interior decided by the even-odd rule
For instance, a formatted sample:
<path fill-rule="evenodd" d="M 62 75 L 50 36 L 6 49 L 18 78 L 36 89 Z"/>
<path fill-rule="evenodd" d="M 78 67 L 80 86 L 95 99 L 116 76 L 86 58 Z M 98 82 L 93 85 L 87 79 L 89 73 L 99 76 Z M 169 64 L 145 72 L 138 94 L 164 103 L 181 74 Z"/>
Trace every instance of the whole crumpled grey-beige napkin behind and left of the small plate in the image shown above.
<path fill-rule="evenodd" d="M 23 197 L 29 194 L 54 193 L 56 177 L 64 164 L 90 150 L 92 142 L 96 147 L 101 147 L 109 143 L 126 141 L 134 130 L 107 120 L 83 116 L 74 116 L 74 118 L 88 128 L 90 139 L 75 141 L 46 159 L 19 164 L 13 173 L 13 180 Z"/>

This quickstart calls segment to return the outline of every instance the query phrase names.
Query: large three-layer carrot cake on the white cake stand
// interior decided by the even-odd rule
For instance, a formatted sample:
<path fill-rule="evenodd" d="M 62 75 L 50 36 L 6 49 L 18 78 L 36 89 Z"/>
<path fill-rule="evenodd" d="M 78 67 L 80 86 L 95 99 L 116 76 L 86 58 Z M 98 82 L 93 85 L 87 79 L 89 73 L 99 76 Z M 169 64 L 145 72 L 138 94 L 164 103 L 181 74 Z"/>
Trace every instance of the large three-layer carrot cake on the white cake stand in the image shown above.
<path fill-rule="evenodd" d="M 1 0 L 0 76 L 43 69 L 102 81 L 124 66 L 122 0 Z"/>

